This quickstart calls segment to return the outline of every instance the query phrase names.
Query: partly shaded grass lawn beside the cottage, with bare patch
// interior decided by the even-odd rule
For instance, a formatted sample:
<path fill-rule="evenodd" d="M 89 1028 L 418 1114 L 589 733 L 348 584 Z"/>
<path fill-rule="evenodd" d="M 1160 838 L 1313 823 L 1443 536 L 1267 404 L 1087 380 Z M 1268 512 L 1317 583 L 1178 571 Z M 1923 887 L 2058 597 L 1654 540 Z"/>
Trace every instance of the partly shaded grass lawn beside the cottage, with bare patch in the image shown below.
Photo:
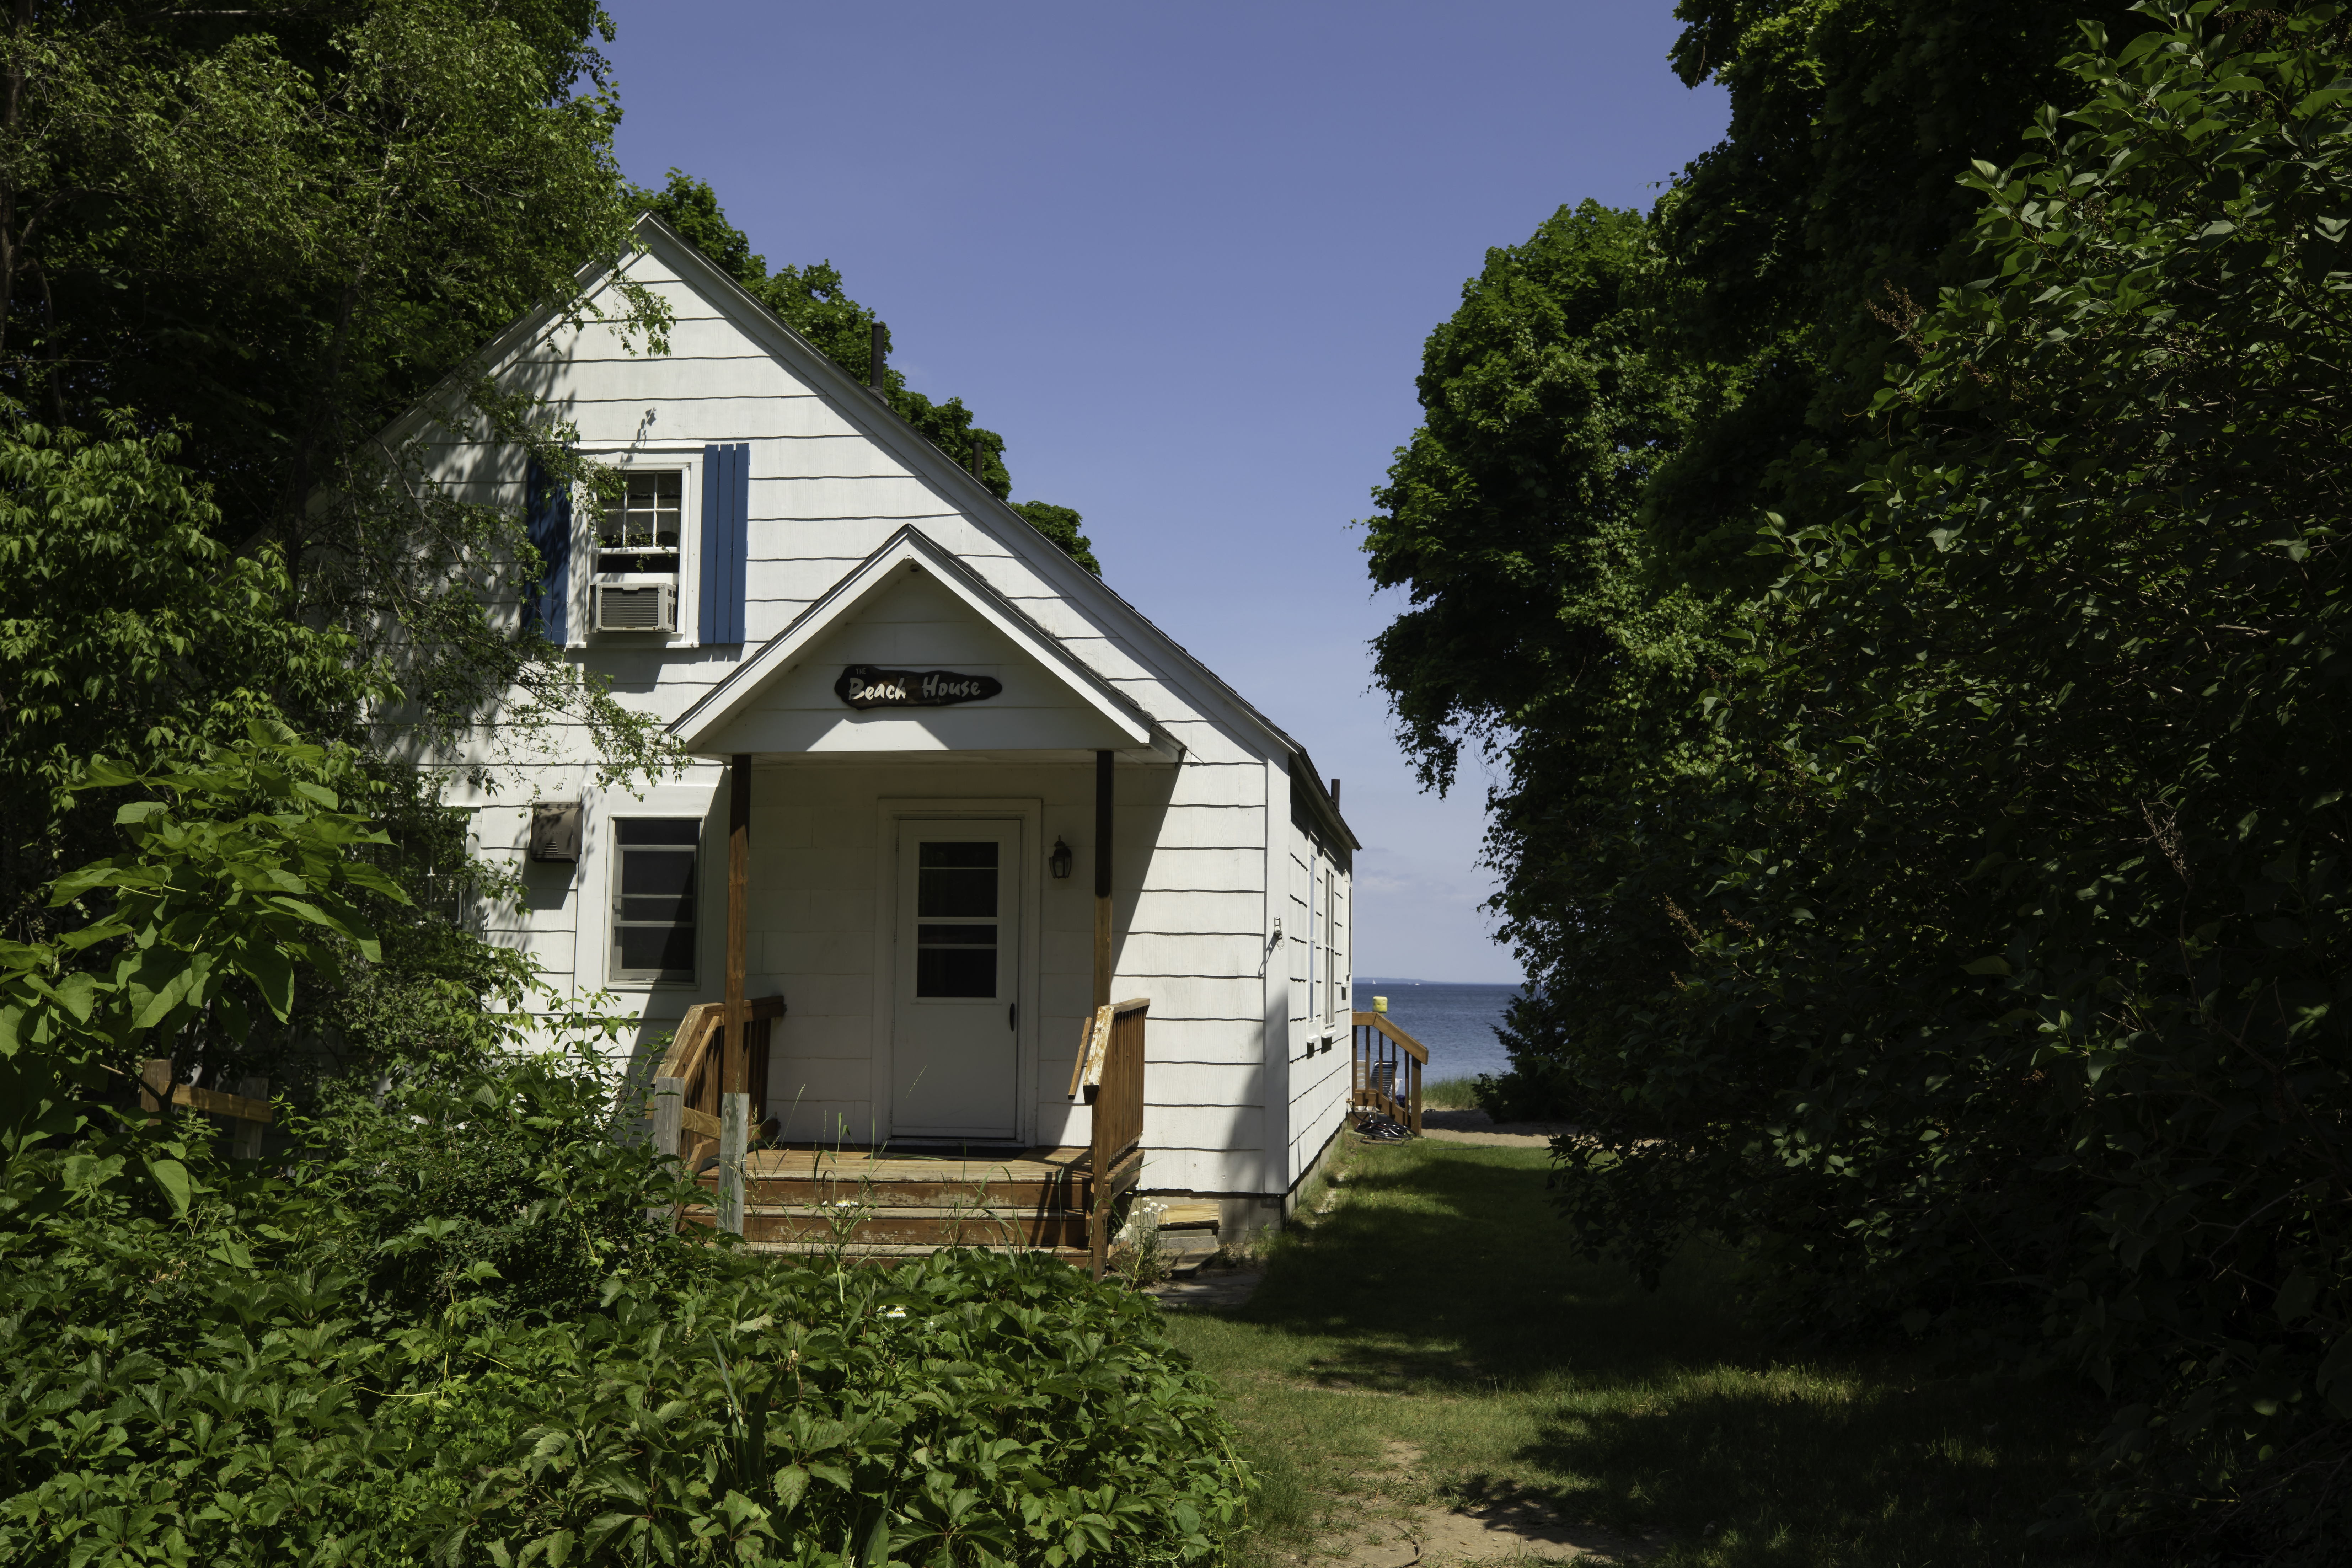
<path fill-rule="evenodd" d="M 1512 1500 L 1663 1542 L 1658 1566 L 2091 1561 L 2025 1530 L 2103 1425 L 2093 1399 L 1776 1352 L 1731 1255 L 1693 1251 L 1656 1293 L 1569 1260 L 1545 1168 L 1352 1147 L 1247 1307 L 1169 1314 L 1268 1483 L 1247 1559 L 1310 1559 L 1374 1507 Z"/>

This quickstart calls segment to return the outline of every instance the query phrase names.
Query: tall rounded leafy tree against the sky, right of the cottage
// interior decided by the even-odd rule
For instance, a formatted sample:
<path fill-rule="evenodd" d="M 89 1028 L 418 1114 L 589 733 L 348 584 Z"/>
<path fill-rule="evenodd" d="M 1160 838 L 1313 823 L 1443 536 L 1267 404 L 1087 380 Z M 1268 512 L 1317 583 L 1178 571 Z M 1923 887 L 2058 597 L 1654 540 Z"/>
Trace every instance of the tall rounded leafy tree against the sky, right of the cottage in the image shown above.
<path fill-rule="evenodd" d="M 1376 644 L 1399 741 L 1439 790 L 1463 745 L 1501 764 L 1498 907 L 1541 980 L 1498 1086 L 1517 1112 L 1564 1110 L 1573 1020 L 1672 990 L 1689 839 L 1736 778 L 1698 719 L 1769 583 L 1752 517 L 1839 505 L 1891 301 L 1966 277 L 1955 172 L 2016 153 L 2074 38 L 2027 0 L 1677 14 L 1675 68 L 1731 89 L 1729 136 L 1646 223 L 1588 205 L 1489 254 L 1367 522 L 1374 581 L 1411 592 Z"/>

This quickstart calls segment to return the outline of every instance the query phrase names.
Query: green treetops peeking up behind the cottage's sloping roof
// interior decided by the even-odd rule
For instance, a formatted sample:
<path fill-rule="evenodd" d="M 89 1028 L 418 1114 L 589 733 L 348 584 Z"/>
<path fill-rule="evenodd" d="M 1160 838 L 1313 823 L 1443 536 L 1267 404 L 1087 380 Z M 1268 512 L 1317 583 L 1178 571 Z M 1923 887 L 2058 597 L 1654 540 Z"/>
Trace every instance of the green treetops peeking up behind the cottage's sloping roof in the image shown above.
<path fill-rule="evenodd" d="M 727 221 L 717 193 L 684 174 L 670 169 L 661 190 L 640 190 L 637 197 L 682 240 L 694 244 L 720 270 L 734 277 L 762 306 L 786 320 L 793 331 L 809 339 L 828 360 L 873 386 L 873 329 L 880 317 L 849 299 L 842 275 L 830 261 L 811 266 L 781 266 L 767 270 L 767 256 L 750 249 L 750 235 Z M 889 327 L 882 329 L 884 350 Z M 974 470 L 978 480 L 1000 498 L 1014 494 L 1011 473 L 1004 468 L 1004 437 L 983 430 L 962 397 L 931 402 L 906 386 L 906 376 L 884 362 L 882 386 L 889 407 L 915 425 L 934 447 L 946 451 L 957 465 Z M 974 463 L 978 463 L 974 468 Z M 1047 501 L 1016 501 L 1014 510 L 1028 517 L 1030 527 L 1051 538 L 1063 555 L 1094 576 L 1103 576 L 1094 559 L 1091 543 L 1077 531 L 1080 517 L 1065 505 Z"/>

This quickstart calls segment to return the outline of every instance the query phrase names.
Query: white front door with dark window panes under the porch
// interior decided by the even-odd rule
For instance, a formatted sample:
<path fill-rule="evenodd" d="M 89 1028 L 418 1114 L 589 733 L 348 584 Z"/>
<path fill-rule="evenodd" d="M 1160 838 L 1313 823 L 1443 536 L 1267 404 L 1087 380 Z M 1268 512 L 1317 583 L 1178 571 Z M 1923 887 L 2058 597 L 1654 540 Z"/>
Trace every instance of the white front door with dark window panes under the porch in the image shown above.
<path fill-rule="evenodd" d="M 891 1135 L 1018 1135 L 1021 823 L 898 825 Z"/>

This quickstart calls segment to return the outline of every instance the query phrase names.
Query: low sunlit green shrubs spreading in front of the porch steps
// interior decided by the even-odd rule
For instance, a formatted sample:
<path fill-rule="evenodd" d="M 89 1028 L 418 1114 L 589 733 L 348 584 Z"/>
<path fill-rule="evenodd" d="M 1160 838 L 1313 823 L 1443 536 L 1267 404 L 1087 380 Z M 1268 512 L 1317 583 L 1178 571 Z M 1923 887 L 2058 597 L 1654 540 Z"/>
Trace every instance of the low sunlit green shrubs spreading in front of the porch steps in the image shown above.
<path fill-rule="evenodd" d="M 534 1135 L 588 1143 L 536 1114 L 572 1091 L 515 1063 L 383 1119 L 468 1105 L 517 1168 Z M 183 1215 L 139 1140 L 191 1171 Z M 609 1140 L 527 1180 L 513 1227 L 475 1204 L 402 1232 L 454 1190 L 426 1150 L 421 1180 L 355 1180 L 374 1147 L 238 1173 L 193 1124 L 12 1154 L 0 1561 L 1056 1568 L 1209 1559 L 1237 1516 L 1211 1387 L 1117 1286 L 1037 1255 L 826 1272 L 703 1246 L 644 1220 L 673 1192 Z"/>

